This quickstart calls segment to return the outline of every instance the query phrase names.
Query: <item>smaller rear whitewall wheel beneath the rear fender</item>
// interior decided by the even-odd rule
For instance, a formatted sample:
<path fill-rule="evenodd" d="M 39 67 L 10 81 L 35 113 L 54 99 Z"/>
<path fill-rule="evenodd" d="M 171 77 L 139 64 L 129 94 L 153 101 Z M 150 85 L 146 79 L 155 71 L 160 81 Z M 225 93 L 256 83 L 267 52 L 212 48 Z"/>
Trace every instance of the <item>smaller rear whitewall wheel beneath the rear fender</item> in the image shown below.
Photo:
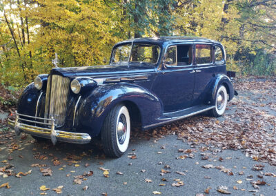
<path fill-rule="evenodd" d="M 227 106 L 227 90 L 225 86 L 219 86 L 216 96 L 215 96 L 215 108 L 209 110 L 209 114 L 213 117 L 220 117 L 224 114 Z"/>

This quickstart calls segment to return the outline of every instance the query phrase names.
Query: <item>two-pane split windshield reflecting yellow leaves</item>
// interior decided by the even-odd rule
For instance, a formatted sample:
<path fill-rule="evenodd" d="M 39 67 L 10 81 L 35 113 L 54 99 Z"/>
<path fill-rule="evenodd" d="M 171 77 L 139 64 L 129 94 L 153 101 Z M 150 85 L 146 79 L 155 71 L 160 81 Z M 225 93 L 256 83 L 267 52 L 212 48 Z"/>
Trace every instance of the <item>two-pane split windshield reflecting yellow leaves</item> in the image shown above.
<path fill-rule="evenodd" d="M 131 55 L 130 55 L 131 51 Z M 115 48 L 112 54 L 111 63 L 157 63 L 160 54 L 160 47 L 150 44 L 135 43 L 131 50 L 131 44 L 125 44 Z"/>

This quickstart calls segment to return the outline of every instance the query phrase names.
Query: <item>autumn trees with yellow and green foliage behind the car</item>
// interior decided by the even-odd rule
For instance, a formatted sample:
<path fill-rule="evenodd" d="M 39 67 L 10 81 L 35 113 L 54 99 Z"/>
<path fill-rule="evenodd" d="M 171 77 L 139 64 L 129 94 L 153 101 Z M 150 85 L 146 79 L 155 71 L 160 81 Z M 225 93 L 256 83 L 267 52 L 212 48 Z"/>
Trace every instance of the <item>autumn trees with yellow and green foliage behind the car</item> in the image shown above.
<path fill-rule="evenodd" d="M 59 66 L 94 66 L 133 37 L 221 41 L 228 70 L 276 75 L 275 0 L 0 0 L 0 78 L 21 87 Z"/>

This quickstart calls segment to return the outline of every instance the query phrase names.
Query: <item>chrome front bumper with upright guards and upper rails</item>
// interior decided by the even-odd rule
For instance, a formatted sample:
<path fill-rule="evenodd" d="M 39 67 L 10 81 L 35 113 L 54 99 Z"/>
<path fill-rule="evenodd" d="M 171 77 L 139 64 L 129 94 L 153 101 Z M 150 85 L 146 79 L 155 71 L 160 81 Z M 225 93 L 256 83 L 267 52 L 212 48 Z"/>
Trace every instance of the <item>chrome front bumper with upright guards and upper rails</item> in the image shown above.
<path fill-rule="evenodd" d="M 11 128 L 14 128 L 15 133 L 17 133 L 17 135 L 20 135 L 21 132 L 25 132 L 37 137 L 51 139 L 54 145 L 57 143 L 57 141 L 65 141 L 65 142 L 74 143 L 74 144 L 87 144 L 91 140 L 91 137 L 88 133 L 72 133 L 72 132 L 66 132 L 63 130 L 55 130 L 55 119 L 53 118 L 43 119 L 40 117 L 21 115 L 17 112 L 15 112 L 15 115 L 16 115 L 15 121 L 8 119 L 8 126 L 10 126 Z M 21 117 L 29 117 L 34 119 L 34 121 L 28 120 L 28 119 L 22 119 Z M 50 123 L 35 121 L 35 119 L 43 119 L 45 121 L 50 121 Z M 28 121 L 35 124 L 46 124 L 48 126 L 51 126 L 51 128 L 31 126 L 31 125 L 22 123 L 22 121 Z"/>

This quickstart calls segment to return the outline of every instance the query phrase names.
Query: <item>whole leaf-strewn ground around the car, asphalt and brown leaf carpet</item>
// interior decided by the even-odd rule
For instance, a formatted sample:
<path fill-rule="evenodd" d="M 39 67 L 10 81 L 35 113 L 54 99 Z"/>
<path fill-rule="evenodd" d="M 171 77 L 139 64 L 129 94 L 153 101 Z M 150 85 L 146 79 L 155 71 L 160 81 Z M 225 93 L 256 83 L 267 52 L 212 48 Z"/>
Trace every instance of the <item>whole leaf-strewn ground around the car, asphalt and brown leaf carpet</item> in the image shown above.
<path fill-rule="evenodd" d="M 242 81 L 224 117 L 134 130 L 119 159 L 99 141 L 52 146 L 2 125 L 0 195 L 276 195 L 275 87 Z"/>

